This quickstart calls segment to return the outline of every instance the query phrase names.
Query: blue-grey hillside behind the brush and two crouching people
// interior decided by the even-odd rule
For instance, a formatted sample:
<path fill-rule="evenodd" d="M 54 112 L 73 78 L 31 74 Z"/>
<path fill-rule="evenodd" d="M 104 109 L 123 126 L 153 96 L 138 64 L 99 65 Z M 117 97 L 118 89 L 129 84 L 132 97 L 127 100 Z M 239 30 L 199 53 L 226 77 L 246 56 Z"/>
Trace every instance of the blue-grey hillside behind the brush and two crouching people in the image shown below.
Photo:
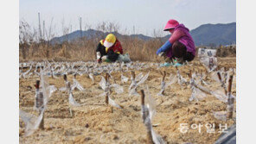
<path fill-rule="evenodd" d="M 104 36 L 107 33 L 88 29 L 86 31 L 82 31 L 82 37 L 86 37 L 87 39 L 93 38 L 94 36 L 101 35 Z M 117 37 L 127 37 L 131 36 L 132 38 L 138 38 L 144 41 L 149 41 L 152 39 L 150 36 L 146 36 L 144 34 L 116 34 Z M 194 38 L 196 46 L 208 46 L 214 44 L 215 46 L 218 45 L 230 45 L 235 43 L 236 41 L 236 23 L 227 23 L 227 24 L 203 24 L 198 28 L 195 28 L 190 31 L 190 34 Z M 163 41 L 166 41 L 170 37 L 166 35 L 163 37 Z M 51 40 L 51 43 L 61 43 L 63 41 L 74 41 L 80 38 L 80 30 L 74 31 L 70 34 L 66 34 L 60 37 L 54 37 Z"/>

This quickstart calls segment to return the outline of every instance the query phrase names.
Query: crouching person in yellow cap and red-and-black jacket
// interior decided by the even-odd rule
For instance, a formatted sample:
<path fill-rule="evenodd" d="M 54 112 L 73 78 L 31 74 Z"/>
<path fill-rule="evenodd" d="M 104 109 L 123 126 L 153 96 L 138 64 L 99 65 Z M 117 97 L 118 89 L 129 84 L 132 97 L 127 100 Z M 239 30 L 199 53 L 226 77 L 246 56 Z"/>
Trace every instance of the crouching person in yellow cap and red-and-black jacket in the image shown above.
<path fill-rule="evenodd" d="M 114 34 L 108 34 L 105 40 L 99 41 L 96 49 L 97 61 L 114 62 L 119 54 L 123 54 L 123 48 Z"/>

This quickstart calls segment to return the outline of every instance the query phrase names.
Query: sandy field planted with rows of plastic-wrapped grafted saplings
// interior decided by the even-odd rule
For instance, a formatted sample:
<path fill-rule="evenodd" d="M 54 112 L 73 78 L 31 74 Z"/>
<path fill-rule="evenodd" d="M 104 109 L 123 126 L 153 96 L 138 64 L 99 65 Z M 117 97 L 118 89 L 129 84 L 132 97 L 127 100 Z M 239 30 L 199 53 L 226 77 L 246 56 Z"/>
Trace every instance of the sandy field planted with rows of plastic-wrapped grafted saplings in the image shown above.
<path fill-rule="evenodd" d="M 20 63 L 20 143 L 214 143 L 236 123 L 236 59 Z"/>

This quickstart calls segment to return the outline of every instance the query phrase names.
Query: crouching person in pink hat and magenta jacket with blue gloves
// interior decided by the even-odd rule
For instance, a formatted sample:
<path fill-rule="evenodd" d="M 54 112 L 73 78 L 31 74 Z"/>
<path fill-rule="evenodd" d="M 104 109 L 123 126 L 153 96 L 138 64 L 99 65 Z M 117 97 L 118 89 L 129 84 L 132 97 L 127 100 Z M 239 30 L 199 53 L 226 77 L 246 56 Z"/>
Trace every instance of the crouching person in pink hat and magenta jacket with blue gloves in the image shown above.
<path fill-rule="evenodd" d="M 177 66 L 195 58 L 195 42 L 189 34 L 189 28 L 176 20 L 169 20 L 163 31 L 169 31 L 171 35 L 170 39 L 157 50 L 157 55 L 163 53 L 163 56 L 171 61 L 176 59 Z"/>

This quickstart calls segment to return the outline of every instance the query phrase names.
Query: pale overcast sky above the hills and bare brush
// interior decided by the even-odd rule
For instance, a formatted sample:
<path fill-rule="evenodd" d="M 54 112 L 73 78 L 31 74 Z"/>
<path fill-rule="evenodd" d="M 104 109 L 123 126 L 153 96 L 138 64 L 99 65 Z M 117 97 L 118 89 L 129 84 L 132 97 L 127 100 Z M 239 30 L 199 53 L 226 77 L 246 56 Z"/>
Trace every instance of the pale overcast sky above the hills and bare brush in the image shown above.
<path fill-rule="evenodd" d="M 46 28 L 53 20 L 54 33 L 60 35 L 61 22 L 72 31 L 99 22 L 118 22 L 137 34 L 152 35 L 153 29 L 163 29 L 169 19 L 176 19 L 189 29 L 206 23 L 236 21 L 235 0 L 20 0 L 20 20 L 38 28 L 38 12 Z M 163 34 L 167 34 L 164 32 Z"/>

